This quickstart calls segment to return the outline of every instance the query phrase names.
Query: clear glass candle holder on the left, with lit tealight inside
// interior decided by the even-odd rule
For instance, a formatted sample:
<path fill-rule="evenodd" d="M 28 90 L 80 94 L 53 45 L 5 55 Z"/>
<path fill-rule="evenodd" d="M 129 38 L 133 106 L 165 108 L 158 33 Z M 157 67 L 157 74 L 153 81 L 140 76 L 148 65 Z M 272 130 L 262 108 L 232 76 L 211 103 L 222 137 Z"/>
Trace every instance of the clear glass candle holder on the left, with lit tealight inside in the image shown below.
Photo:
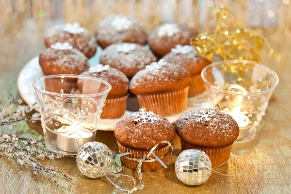
<path fill-rule="evenodd" d="M 64 155 L 95 140 L 98 121 L 111 85 L 81 75 L 52 75 L 32 83 L 40 107 L 46 147 Z"/>

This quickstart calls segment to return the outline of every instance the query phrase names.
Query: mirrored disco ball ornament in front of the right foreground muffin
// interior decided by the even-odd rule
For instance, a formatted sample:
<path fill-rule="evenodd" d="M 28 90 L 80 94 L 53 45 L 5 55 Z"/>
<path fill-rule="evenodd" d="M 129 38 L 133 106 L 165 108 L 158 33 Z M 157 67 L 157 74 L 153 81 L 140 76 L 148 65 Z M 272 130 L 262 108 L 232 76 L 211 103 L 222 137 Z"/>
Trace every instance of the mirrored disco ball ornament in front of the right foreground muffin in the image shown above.
<path fill-rule="evenodd" d="M 175 162 L 176 176 L 186 185 L 201 185 L 211 175 L 211 161 L 205 152 L 187 149 L 179 154 Z"/>

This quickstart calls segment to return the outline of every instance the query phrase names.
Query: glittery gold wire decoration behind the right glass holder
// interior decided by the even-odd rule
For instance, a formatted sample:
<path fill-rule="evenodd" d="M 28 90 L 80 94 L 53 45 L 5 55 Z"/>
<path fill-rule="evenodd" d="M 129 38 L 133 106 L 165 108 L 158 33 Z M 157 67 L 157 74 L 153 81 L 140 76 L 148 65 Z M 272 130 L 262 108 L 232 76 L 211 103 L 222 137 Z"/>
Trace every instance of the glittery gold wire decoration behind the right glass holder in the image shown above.
<path fill-rule="evenodd" d="M 283 69 L 285 62 L 281 54 L 272 49 L 267 38 L 256 30 L 242 27 L 222 0 L 219 2 L 223 5 L 222 8 L 218 8 L 214 0 L 217 9 L 214 32 L 201 33 L 191 39 L 191 45 L 198 54 L 211 62 L 215 60 L 215 56 L 219 56 L 222 60 L 239 59 L 259 63 L 264 43 L 270 56 L 274 57 Z"/>

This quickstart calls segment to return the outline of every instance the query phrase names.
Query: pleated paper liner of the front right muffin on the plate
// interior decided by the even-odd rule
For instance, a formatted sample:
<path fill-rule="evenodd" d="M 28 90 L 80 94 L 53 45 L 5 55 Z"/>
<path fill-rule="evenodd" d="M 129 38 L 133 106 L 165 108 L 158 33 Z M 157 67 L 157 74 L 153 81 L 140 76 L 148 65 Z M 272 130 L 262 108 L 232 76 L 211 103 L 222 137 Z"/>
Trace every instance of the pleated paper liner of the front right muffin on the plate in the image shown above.
<path fill-rule="evenodd" d="M 140 107 L 161 116 L 181 113 L 187 108 L 188 89 L 153 95 L 137 95 Z"/>

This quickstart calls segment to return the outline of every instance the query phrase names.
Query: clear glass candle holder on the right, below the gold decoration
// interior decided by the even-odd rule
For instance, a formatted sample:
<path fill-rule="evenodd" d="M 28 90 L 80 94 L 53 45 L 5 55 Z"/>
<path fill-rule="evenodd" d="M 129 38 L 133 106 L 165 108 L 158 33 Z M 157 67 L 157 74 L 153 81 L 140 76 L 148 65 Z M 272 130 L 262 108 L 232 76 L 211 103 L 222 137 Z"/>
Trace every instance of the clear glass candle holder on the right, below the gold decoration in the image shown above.
<path fill-rule="evenodd" d="M 212 63 L 201 76 L 209 93 L 209 107 L 237 121 L 240 135 L 235 143 L 251 141 L 279 83 L 275 71 L 255 62 L 235 60 Z"/>

